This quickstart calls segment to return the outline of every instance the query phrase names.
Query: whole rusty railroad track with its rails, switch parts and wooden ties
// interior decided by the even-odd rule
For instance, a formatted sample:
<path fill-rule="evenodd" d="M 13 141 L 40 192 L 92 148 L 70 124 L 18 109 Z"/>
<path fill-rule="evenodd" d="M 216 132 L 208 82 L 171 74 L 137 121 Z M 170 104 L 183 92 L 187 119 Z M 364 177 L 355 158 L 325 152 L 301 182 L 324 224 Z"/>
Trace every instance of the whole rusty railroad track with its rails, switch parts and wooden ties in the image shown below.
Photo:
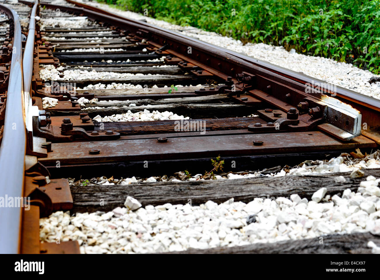
<path fill-rule="evenodd" d="M 270 177 L 105 189 L 70 188 L 67 178 L 196 174 L 218 156 L 224 172 L 263 170 L 380 143 L 377 99 L 83 3 L 8 6 L 30 14 L 30 22 L 22 37 L 17 14 L 0 5 L 8 17 L 0 65 L 1 193 L 30 197 L 32 205 L 22 215 L 19 208 L 2 210 L 3 252 L 79 253 L 76 241 L 40 243 L 40 216 L 108 212 L 127 196 L 143 205 L 199 205 L 290 191 L 310 198 L 321 182 L 333 195 L 360 183 L 346 174 L 348 185 L 317 176 L 306 186 Z M 268 188 L 276 182 L 291 188 Z M 347 237 L 331 238 L 342 250 L 339 239 Z M 358 247 L 367 239 L 355 240 Z"/>

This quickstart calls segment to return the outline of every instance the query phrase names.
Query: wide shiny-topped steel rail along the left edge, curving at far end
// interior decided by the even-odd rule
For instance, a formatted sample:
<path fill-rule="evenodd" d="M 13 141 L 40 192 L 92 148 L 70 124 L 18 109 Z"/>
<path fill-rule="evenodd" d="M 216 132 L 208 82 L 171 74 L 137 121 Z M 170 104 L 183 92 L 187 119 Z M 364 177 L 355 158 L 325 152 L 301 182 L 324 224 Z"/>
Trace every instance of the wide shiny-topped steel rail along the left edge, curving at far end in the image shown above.
<path fill-rule="evenodd" d="M 8 14 L 9 21 L 14 24 L 3 139 L 0 146 L 0 198 L 5 203 L 0 208 L 0 253 L 19 253 L 22 208 L 8 205 L 8 199 L 17 201 L 22 197 L 24 187 L 26 131 L 21 25 L 14 10 L 1 4 L 0 10 Z M 9 33 L 12 31 L 9 30 Z"/>

